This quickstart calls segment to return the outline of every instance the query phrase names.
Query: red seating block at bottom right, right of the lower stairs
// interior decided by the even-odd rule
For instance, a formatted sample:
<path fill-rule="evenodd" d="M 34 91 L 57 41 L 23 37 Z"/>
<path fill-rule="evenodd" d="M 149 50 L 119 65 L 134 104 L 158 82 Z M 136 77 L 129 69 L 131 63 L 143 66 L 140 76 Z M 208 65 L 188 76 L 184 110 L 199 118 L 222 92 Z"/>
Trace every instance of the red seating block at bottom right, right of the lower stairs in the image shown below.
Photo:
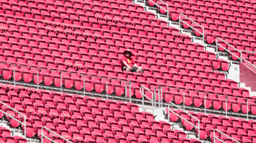
<path fill-rule="evenodd" d="M 174 111 L 187 121 L 190 121 L 192 124 L 198 126 L 198 121 L 191 116 L 188 116 L 188 114 L 185 114 L 184 111 L 174 109 L 171 109 L 171 111 Z M 184 119 L 180 119 L 179 116 L 176 116 L 171 111 L 168 112 L 168 109 L 166 109 L 166 116 L 170 114 L 170 121 L 178 122 L 179 124 L 182 124 L 184 129 L 188 131 L 195 131 L 198 134 L 198 129 L 191 124 L 188 124 L 187 121 L 184 121 Z M 213 114 L 195 113 L 192 111 L 188 111 L 188 113 L 195 116 L 197 119 L 200 119 L 200 139 L 206 139 L 213 142 L 213 131 L 214 129 L 218 129 L 218 131 L 229 135 L 229 137 L 236 139 L 238 142 L 256 142 L 256 121 L 254 120 L 236 119 L 234 117 L 216 116 Z M 233 142 L 233 140 L 229 139 L 223 134 L 220 134 L 219 132 L 216 132 L 216 136 L 219 139 L 222 139 L 224 142 Z M 221 143 L 216 139 L 216 143 L 217 142 Z"/>

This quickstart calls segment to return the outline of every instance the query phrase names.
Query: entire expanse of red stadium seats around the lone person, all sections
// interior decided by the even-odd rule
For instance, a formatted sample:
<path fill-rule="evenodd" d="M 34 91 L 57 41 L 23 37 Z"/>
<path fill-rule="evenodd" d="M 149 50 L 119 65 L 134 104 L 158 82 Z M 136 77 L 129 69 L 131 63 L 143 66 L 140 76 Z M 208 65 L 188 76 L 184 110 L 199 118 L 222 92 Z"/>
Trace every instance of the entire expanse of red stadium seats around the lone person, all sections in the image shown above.
<path fill-rule="evenodd" d="M 161 1 L 153 1 L 166 9 Z M 30 139 L 51 142 L 46 137 L 64 142 L 43 126 L 71 142 L 213 142 L 213 132 L 218 129 L 239 142 L 256 143 L 256 121 L 248 120 L 256 115 L 255 97 L 226 78 L 230 63 L 192 43 L 188 34 L 180 34 L 179 29 L 169 27 L 168 22 L 157 19 L 140 4 L 133 4 L 132 0 L 0 2 L 0 80 L 14 84 L 0 85 L 0 108 L 26 122 L 22 125 L 0 113 L 0 119 L 10 127 L 0 125 L 0 143 L 25 143 Z M 158 13 L 168 14 L 176 22 L 179 13 L 185 14 L 204 27 L 208 45 L 215 45 L 216 37 L 221 37 L 237 50 L 255 51 L 255 1 L 165 2 L 169 5 L 168 13 L 159 7 Z M 156 8 L 150 1 L 145 5 Z M 183 21 L 202 31 L 189 20 Z M 183 29 L 189 29 L 181 24 Z M 202 36 L 195 30 L 192 35 Z M 240 57 L 224 42 L 218 44 Z M 122 53 L 128 48 L 143 73 L 122 71 Z M 250 62 L 256 61 L 252 58 L 255 55 L 243 54 Z M 238 59 L 231 56 L 231 60 Z M 187 121 L 166 110 L 166 118 L 169 114 L 171 121 L 168 123 L 155 120 L 155 114 L 140 111 L 135 103 L 85 96 L 90 93 L 141 102 L 142 86 L 154 92 L 152 96 L 143 91 L 153 99 L 152 106 L 155 100 L 162 107 L 175 103 L 184 105 L 184 109 L 205 108 L 205 113 L 208 109 L 219 114 L 243 114 L 247 120 L 189 111 L 200 120 L 198 140 L 189 138 L 198 129 L 187 122 L 197 126 L 197 120 L 182 110 L 171 109 Z M 174 124 L 183 130 L 174 128 Z M 11 134 L 10 129 L 26 131 L 25 137 Z M 42 139 L 42 135 L 46 137 Z M 233 142 L 220 132 L 215 135 L 224 142 Z"/>

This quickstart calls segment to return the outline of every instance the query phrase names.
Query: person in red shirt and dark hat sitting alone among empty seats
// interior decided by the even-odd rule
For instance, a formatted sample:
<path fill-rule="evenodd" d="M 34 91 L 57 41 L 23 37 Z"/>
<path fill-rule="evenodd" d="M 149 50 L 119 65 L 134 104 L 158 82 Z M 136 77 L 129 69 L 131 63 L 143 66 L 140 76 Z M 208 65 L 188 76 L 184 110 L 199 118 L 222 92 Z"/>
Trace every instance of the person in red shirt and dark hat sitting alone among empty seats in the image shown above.
<path fill-rule="evenodd" d="M 121 58 L 122 70 L 127 70 L 131 72 L 142 72 L 142 68 L 136 65 L 135 60 L 132 59 L 132 52 L 127 49 L 123 52 L 124 56 Z"/>

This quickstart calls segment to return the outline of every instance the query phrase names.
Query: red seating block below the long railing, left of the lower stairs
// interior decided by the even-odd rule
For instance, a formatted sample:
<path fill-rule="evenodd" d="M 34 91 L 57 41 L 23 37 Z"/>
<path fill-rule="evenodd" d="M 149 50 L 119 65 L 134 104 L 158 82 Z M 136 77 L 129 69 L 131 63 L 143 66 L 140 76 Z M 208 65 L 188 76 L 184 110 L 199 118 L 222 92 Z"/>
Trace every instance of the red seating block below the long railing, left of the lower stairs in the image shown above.
<path fill-rule="evenodd" d="M 134 103 L 103 100 L 88 96 L 69 95 L 54 91 L 35 90 L 22 86 L 1 86 L 0 100 L 20 111 L 27 117 L 27 137 L 41 139 L 42 126 L 60 134 L 72 142 L 173 142 L 187 139 L 185 132 L 171 130 L 166 121 L 155 121 L 153 114 L 139 111 Z M 20 121 L 23 117 L 1 104 L 1 110 L 12 114 Z M 12 128 L 20 124 L 4 114 Z M 24 126 L 22 126 L 24 129 Z M 44 130 L 44 135 L 56 142 L 64 142 L 55 134 Z M 0 142 L 23 142 L 25 139 L 12 137 L 9 129 L 0 128 Z M 50 142 L 48 139 L 43 142 Z"/>

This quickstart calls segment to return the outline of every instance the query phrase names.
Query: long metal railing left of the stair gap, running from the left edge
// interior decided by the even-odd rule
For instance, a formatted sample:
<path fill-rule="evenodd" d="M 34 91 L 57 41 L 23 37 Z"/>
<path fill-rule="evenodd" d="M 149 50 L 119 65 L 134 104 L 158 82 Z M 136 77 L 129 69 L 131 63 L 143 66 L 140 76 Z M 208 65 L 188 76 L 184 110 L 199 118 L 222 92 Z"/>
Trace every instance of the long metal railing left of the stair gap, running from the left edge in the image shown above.
<path fill-rule="evenodd" d="M 14 70 L 13 70 L 13 78 L 14 78 L 14 81 L 13 81 L 13 83 L 14 83 L 14 86 L 16 86 L 16 83 L 20 83 L 20 82 L 17 82 L 16 80 L 15 80 L 15 71 L 16 70 L 18 70 L 18 69 L 16 69 L 15 67 L 16 66 L 20 66 L 20 67 L 27 67 L 27 68 L 36 68 L 37 69 L 37 73 L 36 73 L 36 75 L 37 75 L 37 83 L 36 83 L 36 86 L 37 86 L 37 88 L 39 89 L 39 70 L 49 70 L 49 71 L 55 71 L 55 72 L 59 72 L 60 73 L 60 83 L 61 83 L 61 86 L 59 87 L 60 88 L 60 91 L 62 92 L 63 91 L 63 87 L 62 87 L 62 78 L 63 78 L 63 76 L 62 76 L 62 73 L 71 73 L 71 72 L 65 72 L 65 71 L 61 71 L 61 70 L 50 70 L 50 69 L 46 69 L 46 68 L 37 68 L 37 67 L 33 67 L 33 66 L 27 66 L 27 65 L 18 65 L 18 64 L 13 64 L 13 63 L 4 63 L 4 62 L 0 62 L 0 63 L 2 63 L 2 64 L 7 64 L 7 65 L 13 65 L 14 66 Z M 33 73 L 30 73 L 30 74 L 33 74 Z M 106 78 L 106 77 L 101 77 L 101 76 L 95 76 L 95 75 L 87 75 L 87 74 L 81 74 L 81 73 L 72 73 L 72 74 L 76 74 L 76 75 L 80 75 L 80 76 L 83 76 L 83 83 L 84 83 L 84 85 L 83 85 L 83 94 L 84 94 L 84 96 L 85 96 L 85 76 L 88 76 L 88 77 L 94 77 L 94 78 L 101 78 L 101 79 L 106 79 L 106 89 L 105 89 L 105 91 L 106 91 L 106 98 L 108 98 L 108 80 L 118 80 L 118 79 L 115 79 L 115 78 Z M 34 79 L 34 78 L 33 78 Z M 82 80 L 82 79 L 81 79 Z M 131 81 L 127 81 L 127 80 L 119 80 L 119 81 L 124 81 L 124 82 L 126 82 L 125 83 L 125 100 L 127 101 L 127 84 L 129 83 L 129 102 L 131 102 L 132 101 L 132 98 L 131 98 L 131 95 L 132 95 L 132 88 L 131 88 Z M 9 81 L 9 83 L 10 83 L 10 81 Z M 52 83 L 52 84 L 54 84 L 54 83 Z M 120 86 L 121 86 L 121 84 L 120 84 Z M 76 92 L 76 91 L 74 91 L 74 92 Z M 103 94 L 101 94 L 101 96 L 103 96 Z"/>

